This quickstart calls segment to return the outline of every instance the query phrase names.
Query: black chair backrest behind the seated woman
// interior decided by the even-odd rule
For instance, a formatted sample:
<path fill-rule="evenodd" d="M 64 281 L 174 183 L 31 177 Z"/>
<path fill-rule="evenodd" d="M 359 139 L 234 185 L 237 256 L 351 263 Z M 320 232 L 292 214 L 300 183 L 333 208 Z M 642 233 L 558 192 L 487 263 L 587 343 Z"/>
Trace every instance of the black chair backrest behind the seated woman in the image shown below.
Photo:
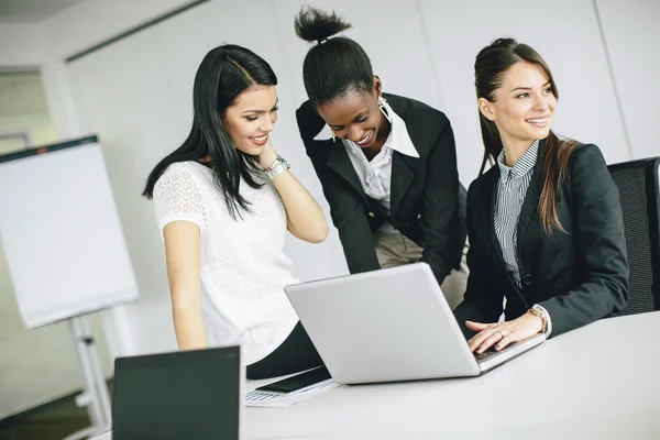
<path fill-rule="evenodd" d="M 623 315 L 660 309 L 660 157 L 608 166 L 624 212 L 628 306 Z"/>

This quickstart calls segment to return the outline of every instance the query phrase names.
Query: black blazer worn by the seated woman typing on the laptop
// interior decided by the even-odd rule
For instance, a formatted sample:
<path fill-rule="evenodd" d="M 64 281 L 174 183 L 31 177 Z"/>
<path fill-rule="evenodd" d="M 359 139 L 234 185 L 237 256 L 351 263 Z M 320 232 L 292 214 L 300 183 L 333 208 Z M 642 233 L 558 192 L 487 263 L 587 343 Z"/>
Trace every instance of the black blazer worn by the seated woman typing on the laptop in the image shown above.
<path fill-rule="evenodd" d="M 539 144 L 534 176 L 518 219 L 518 268 L 522 288 L 506 271 L 493 216 L 499 168 L 492 167 L 470 186 L 468 234 L 470 276 L 454 315 L 465 336 L 465 320 L 496 322 L 506 297 L 506 320 L 543 306 L 558 336 L 622 310 L 628 300 L 628 261 L 619 194 L 601 151 L 578 146 L 566 179 L 560 184 L 557 215 L 566 232 L 548 235 L 539 220 L 546 142 Z"/>

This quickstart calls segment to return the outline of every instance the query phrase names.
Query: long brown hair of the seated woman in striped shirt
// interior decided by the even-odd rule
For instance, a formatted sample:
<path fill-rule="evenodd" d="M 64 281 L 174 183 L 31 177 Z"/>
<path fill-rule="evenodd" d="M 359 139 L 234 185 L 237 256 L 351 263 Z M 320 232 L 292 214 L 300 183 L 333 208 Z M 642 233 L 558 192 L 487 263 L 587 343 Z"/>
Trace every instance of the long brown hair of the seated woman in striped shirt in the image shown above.
<path fill-rule="evenodd" d="M 554 98 L 559 99 L 557 84 L 548 64 L 534 48 L 527 44 L 518 43 L 514 38 L 497 38 L 476 55 L 474 86 L 476 87 L 477 99 L 484 98 L 495 102 L 495 89 L 502 86 L 506 72 L 519 62 L 527 62 L 541 67 L 548 75 Z M 481 112 L 480 122 L 484 142 L 484 157 L 479 172 L 481 175 L 488 158 L 496 161 L 504 145 L 495 122 L 488 120 Z M 564 231 L 559 217 L 557 217 L 557 189 L 559 184 L 565 179 L 569 158 L 578 144 L 573 140 L 559 139 L 552 131 L 546 139 L 544 179 L 538 209 L 541 224 L 547 233 L 552 233 L 554 229 Z"/>

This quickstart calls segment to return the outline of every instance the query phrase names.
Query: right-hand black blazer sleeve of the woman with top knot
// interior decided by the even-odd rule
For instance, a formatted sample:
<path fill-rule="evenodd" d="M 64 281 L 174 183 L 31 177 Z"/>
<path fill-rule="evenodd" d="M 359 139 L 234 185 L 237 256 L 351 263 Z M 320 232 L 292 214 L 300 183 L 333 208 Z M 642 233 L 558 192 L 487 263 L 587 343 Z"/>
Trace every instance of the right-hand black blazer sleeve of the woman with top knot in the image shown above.
<path fill-rule="evenodd" d="M 444 117 L 443 117 L 444 119 Z M 458 265 L 464 231 L 459 227 L 459 172 L 453 130 L 444 127 L 427 161 L 420 218 L 421 261 L 428 263 L 439 284 Z"/>

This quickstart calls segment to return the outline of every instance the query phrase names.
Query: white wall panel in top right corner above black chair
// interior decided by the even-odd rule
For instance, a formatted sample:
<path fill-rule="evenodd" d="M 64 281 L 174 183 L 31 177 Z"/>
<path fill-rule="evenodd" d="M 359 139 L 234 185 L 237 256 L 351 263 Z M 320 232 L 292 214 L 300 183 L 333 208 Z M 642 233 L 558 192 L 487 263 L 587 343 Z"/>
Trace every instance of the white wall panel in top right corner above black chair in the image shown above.
<path fill-rule="evenodd" d="M 596 0 L 596 6 L 634 157 L 658 156 L 660 1 Z"/>

